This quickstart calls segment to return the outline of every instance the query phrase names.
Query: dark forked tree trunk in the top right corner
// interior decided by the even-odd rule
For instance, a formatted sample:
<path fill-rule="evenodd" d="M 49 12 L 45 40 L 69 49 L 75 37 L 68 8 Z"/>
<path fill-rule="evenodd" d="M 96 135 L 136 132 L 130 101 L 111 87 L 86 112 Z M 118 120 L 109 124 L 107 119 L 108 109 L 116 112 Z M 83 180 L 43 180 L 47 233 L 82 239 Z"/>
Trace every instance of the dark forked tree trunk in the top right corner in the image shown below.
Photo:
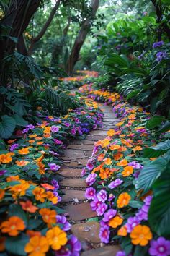
<path fill-rule="evenodd" d="M 160 24 L 164 16 L 164 12 L 162 10 L 161 4 L 159 4 L 156 0 L 151 0 L 151 1 L 153 3 L 153 6 L 155 7 L 157 23 Z M 166 33 L 167 37 L 170 40 L 170 28 L 166 24 L 166 22 L 161 23 L 158 27 L 158 41 L 161 41 L 162 31 Z"/>

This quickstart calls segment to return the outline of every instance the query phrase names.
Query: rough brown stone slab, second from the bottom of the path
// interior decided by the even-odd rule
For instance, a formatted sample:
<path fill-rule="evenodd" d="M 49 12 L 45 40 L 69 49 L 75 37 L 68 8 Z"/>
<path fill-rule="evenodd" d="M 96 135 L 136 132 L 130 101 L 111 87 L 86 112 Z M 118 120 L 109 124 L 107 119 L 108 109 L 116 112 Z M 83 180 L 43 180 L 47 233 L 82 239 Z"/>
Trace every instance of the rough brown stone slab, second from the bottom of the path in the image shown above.
<path fill-rule="evenodd" d="M 99 222 L 89 221 L 71 226 L 71 232 L 79 239 L 80 242 L 88 241 L 94 244 L 98 244 L 100 242 L 99 228 Z"/>

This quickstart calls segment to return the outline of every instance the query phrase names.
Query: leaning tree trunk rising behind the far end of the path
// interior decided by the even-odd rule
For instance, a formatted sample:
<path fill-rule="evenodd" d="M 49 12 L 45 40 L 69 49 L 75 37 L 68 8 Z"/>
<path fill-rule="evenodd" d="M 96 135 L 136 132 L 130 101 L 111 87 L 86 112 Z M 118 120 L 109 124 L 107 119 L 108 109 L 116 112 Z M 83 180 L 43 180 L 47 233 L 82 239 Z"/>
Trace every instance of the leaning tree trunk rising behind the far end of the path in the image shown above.
<path fill-rule="evenodd" d="M 91 10 L 92 10 L 91 17 L 87 18 L 87 20 L 82 23 L 81 29 L 79 30 L 79 34 L 76 37 L 76 40 L 73 44 L 73 48 L 71 49 L 71 54 L 68 58 L 66 72 L 69 75 L 73 73 L 73 67 L 76 64 L 76 61 L 79 60 L 79 53 L 80 53 L 81 47 L 84 44 L 86 35 L 89 33 L 89 30 L 91 27 L 91 20 L 94 19 L 97 13 L 98 7 L 99 7 L 99 0 L 91 0 Z"/>

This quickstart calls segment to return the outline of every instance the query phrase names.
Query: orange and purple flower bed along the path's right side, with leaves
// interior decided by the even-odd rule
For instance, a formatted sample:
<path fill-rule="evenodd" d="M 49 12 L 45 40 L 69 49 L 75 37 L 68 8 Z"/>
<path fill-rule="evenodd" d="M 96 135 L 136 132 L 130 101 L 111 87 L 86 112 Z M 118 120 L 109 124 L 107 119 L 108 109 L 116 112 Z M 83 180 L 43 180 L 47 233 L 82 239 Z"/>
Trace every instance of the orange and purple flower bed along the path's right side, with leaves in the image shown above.
<path fill-rule="evenodd" d="M 120 118 L 104 140 L 94 143 L 82 171 L 88 174 L 85 195 L 99 216 L 101 242 L 118 242 L 117 256 L 170 255 L 169 141 L 146 129 L 150 114 L 119 94 L 92 85 L 80 91 L 111 104 Z"/>

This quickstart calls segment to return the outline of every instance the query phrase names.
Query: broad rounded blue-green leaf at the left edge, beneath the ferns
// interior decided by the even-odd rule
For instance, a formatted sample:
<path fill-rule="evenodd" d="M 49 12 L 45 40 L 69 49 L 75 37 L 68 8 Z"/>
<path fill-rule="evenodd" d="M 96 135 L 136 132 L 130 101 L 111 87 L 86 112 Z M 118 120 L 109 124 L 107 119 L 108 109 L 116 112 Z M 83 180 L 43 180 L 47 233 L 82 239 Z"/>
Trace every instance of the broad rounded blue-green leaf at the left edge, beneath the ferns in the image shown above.
<path fill-rule="evenodd" d="M 10 116 L 1 116 L 0 122 L 0 138 L 7 139 L 12 135 L 16 127 L 16 122 Z"/>

